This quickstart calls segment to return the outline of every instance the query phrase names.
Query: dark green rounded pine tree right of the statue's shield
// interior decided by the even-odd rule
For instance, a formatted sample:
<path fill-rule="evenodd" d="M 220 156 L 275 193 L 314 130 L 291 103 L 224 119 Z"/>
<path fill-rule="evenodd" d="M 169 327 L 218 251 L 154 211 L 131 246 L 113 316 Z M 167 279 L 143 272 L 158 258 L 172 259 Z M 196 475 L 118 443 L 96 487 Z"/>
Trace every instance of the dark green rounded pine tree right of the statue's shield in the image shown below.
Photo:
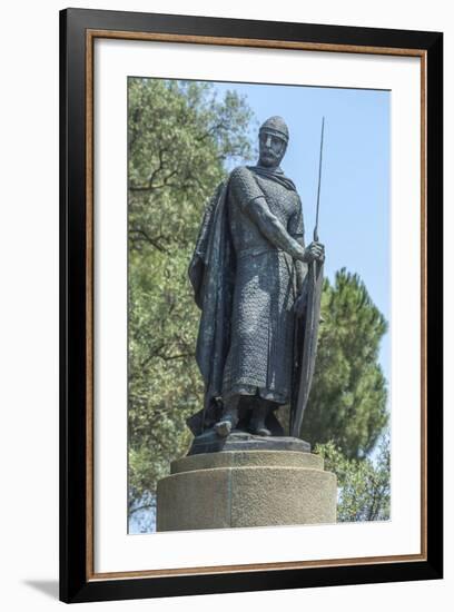
<path fill-rule="evenodd" d="M 367 455 L 387 422 L 386 379 L 378 363 L 387 329 L 364 283 L 345 269 L 322 296 L 318 353 L 302 437 L 334 441 L 348 458 Z"/>

